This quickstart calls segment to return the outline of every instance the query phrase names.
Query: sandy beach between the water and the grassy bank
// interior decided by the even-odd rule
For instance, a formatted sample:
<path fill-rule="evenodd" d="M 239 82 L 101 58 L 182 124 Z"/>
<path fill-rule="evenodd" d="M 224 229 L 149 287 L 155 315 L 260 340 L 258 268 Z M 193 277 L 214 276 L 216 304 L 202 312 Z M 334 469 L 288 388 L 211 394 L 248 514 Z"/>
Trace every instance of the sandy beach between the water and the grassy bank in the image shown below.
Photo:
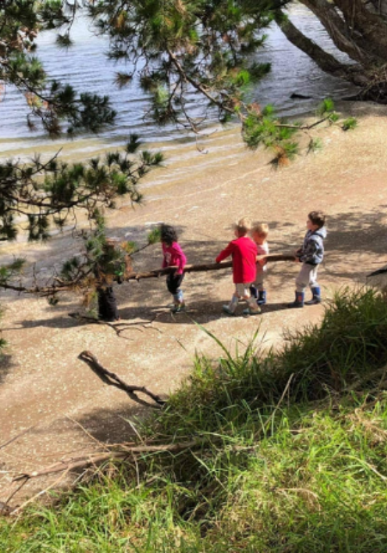
<path fill-rule="evenodd" d="M 196 353 L 222 355 L 206 330 L 232 351 L 245 348 L 257 329 L 258 347 L 281 348 L 289 330 L 321 319 L 334 292 L 364 285 L 366 274 L 387 263 L 387 107 L 343 102 L 337 109 L 355 115 L 357 129 L 321 127 L 323 149 L 279 170 L 268 164 L 269 152 L 247 150 L 237 129 L 202 140 L 202 153 L 195 144 L 176 144 L 166 153 L 165 167 L 142 183 L 144 205 L 134 210 L 120 205 L 108 214 L 110 236 L 141 244 L 147 229 L 164 221 L 176 225 L 189 263 L 212 263 L 241 216 L 268 223 L 270 251 L 289 253 L 303 239 L 308 212 L 323 209 L 328 216 L 319 271 L 323 304 L 286 308 L 298 270 L 290 262 L 268 267 L 268 303 L 259 317 L 243 317 L 243 306 L 240 317 L 223 315 L 233 290 L 228 270 L 188 274 L 183 286 L 188 310 L 180 315 L 167 309 L 164 279 L 117 285 L 122 321 L 115 328 L 69 317 L 81 309 L 75 295 L 52 307 L 45 299 L 3 292 L 1 328 L 8 346 L 0 365 L 0 500 L 15 489 L 11 480 L 20 471 L 130 440 L 136 419 L 151 409 L 104 384 L 78 359 L 83 350 L 129 384 L 167 395 L 189 374 Z M 66 234 L 44 245 L 9 245 L 6 257 L 26 254 L 44 279 L 53 264 L 59 268 L 79 247 Z M 160 245 L 153 245 L 135 258 L 135 268 L 158 268 L 161 260 Z M 65 481 L 58 478 L 32 481 L 19 493 L 25 497 Z M 19 496 L 11 503 L 17 501 Z"/>

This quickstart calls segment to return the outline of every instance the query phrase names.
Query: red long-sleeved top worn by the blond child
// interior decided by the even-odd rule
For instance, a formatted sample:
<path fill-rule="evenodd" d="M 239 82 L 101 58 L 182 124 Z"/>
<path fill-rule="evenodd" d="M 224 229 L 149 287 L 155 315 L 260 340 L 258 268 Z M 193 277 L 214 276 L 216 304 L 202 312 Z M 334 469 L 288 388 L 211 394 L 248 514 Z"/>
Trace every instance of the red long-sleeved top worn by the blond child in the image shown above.
<path fill-rule="evenodd" d="M 235 284 L 254 282 L 256 277 L 256 244 L 247 236 L 241 236 L 229 243 L 216 258 L 220 263 L 232 256 L 232 274 Z"/>

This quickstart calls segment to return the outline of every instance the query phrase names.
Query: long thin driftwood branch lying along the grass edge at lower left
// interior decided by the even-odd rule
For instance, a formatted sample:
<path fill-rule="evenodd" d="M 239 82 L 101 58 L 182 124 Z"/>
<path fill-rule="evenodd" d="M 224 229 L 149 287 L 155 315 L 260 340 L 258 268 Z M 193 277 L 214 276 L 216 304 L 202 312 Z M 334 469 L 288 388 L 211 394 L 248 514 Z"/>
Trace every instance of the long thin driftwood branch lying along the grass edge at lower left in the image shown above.
<path fill-rule="evenodd" d="M 53 465 L 49 465 L 45 469 L 40 471 L 33 471 L 30 473 L 19 474 L 13 478 L 12 482 L 17 482 L 17 480 L 23 480 L 23 478 L 39 478 L 39 476 L 46 476 L 47 474 L 54 474 L 56 472 L 62 471 L 72 471 L 74 469 L 86 469 L 92 465 L 97 465 L 104 461 L 108 460 L 117 460 L 125 459 L 126 457 L 133 456 L 135 454 L 141 453 L 162 453 L 163 451 L 168 451 L 169 453 L 177 453 L 179 451 L 184 451 L 191 447 L 196 447 L 202 444 L 201 440 L 191 440 L 189 442 L 180 442 L 176 444 L 158 444 L 158 445 L 140 445 L 140 446 L 130 446 L 125 447 L 120 451 L 108 451 L 105 453 L 92 453 L 91 455 L 83 457 L 74 457 L 67 460 L 59 461 Z M 121 447 L 124 447 L 122 444 Z"/>

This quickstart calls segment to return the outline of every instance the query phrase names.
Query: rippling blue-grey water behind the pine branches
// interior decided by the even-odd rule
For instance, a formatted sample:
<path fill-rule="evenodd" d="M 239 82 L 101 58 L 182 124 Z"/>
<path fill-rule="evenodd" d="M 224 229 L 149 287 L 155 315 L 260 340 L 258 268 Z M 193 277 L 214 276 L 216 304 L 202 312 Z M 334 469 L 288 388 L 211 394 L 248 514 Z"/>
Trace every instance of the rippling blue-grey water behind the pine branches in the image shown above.
<path fill-rule="evenodd" d="M 303 6 L 295 5 L 290 10 L 292 21 L 323 46 L 325 50 L 335 51 L 332 42 L 319 21 Z M 39 57 L 44 61 L 51 77 L 68 81 L 75 88 L 109 95 L 118 112 L 117 122 L 113 129 L 108 129 L 98 136 L 81 135 L 75 140 L 49 140 L 41 130 L 29 131 L 25 116 L 28 113 L 23 98 L 8 87 L 3 101 L 0 102 L 0 156 L 32 156 L 35 151 L 56 151 L 64 148 L 64 153 L 72 156 L 93 156 L 106 147 L 120 147 L 129 133 L 138 133 L 144 142 L 158 144 L 168 148 L 174 142 L 181 149 L 192 143 L 193 136 L 184 133 L 175 126 L 157 127 L 147 120 L 147 95 L 135 83 L 118 89 L 113 84 L 116 71 L 124 66 L 109 62 L 105 57 L 107 41 L 95 37 L 88 31 L 84 21 L 79 21 L 74 28 L 75 47 L 70 50 L 55 48 L 55 35 L 47 32 L 39 37 Z M 55 48 L 55 56 L 53 55 Z M 297 115 L 314 109 L 319 101 L 330 96 L 341 98 L 354 93 L 353 86 L 340 79 L 326 75 L 300 50 L 292 46 L 273 24 L 267 45 L 256 55 L 259 62 L 271 62 L 272 71 L 252 89 L 251 99 L 261 105 L 274 104 L 281 115 Z M 343 59 L 343 55 L 341 55 Z M 310 96 L 310 100 L 292 100 L 292 93 Z M 196 98 L 193 98 L 193 106 Z M 212 122 L 220 128 L 216 121 Z"/>

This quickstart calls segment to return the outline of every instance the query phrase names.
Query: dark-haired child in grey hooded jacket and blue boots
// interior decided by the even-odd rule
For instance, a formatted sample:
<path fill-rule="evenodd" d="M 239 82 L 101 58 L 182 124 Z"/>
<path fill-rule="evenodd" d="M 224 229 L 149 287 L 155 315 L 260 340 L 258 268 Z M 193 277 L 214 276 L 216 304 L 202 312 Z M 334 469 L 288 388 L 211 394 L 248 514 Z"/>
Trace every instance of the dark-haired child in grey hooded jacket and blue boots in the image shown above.
<path fill-rule="evenodd" d="M 296 278 L 296 299 L 288 304 L 288 307 L 312 306 L 321 302 L 321 289 L 317 282 L 317 270 L 323 261 L 323 240 L 327 235 L 325 229 L 325 214 L 323 212 L 310 212 L 306 227 L 303 245 L 296 251 L 296 261 L 302 263 L 299 275 Z M 312 299 L 304 301 L 305 289 L 310 287 Z"/>

